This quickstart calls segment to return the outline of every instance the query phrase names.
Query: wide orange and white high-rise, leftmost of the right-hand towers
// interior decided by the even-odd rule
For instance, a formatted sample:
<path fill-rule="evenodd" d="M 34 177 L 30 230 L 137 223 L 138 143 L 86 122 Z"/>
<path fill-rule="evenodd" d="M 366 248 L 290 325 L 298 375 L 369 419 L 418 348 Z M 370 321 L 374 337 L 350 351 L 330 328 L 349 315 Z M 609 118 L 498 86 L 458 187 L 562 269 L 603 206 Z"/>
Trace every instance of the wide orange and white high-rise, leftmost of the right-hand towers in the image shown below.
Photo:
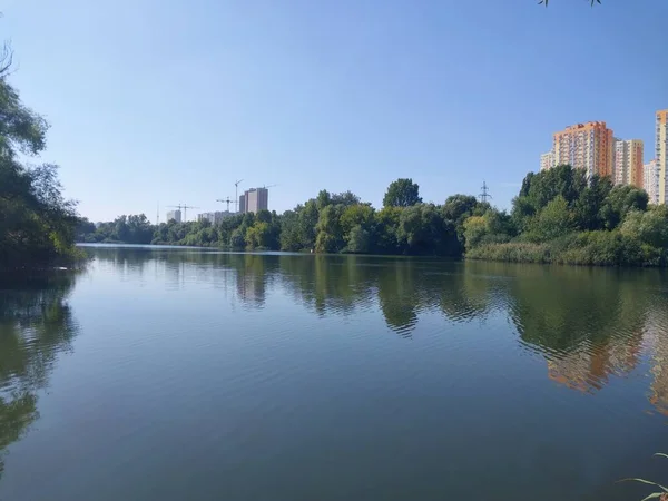
<path fill-rule="evenodd" d="M 611 176 L 615 139 L 605 121 L 588 121 L 556 132 L 552 140 L 553 165 L 568 164 L 587 170 L 588 176 Z"/>

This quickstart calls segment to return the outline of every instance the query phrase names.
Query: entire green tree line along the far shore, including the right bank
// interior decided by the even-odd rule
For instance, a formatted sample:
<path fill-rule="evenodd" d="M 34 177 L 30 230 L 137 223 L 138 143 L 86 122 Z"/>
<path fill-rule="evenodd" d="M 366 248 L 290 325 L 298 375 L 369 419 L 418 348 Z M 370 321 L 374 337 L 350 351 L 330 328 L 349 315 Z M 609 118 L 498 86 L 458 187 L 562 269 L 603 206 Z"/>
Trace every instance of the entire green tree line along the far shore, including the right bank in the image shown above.
<path fill-rule="evenodd" d="M 412 179 L 392 183 L 375 209 L 352 191 L 321 190 L 283 214 L 261 210 L 218 224 L 150 225 L 146 216 L 82 222 L 81 242 L 124 242 L 247 250 L 390 254 L 509 262 L 665 266 L 668 208 L 647 193 L 587 177 L 568 165 L 529 173 L 510 213 L 471 195 L 423 203 Z"/>

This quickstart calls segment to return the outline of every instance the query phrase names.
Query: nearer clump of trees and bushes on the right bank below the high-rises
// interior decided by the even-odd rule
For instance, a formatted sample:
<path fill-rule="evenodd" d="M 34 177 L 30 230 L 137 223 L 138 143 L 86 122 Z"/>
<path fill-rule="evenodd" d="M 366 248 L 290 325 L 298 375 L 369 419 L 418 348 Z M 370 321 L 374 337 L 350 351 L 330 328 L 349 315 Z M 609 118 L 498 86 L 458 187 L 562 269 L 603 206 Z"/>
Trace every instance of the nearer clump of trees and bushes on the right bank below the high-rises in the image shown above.
<path fill-rule="evenodd" d="M 668 209 L 647 194 L 570 166 L 530 173 L 509 216 L 490 210 L 463 224 L 466 256 L 531 263 L 666 266 Z M 491 216 L 490 216 L 491 217 Z"/>

